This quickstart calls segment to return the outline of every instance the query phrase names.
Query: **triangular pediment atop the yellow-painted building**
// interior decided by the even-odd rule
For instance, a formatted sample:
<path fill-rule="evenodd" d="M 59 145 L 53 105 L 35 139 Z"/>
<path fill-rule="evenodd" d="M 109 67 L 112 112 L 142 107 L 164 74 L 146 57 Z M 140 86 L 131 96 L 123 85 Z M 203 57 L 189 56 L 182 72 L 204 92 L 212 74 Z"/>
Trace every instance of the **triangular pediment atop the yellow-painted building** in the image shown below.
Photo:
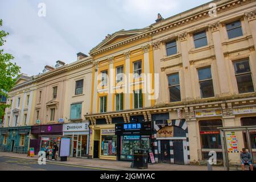
<path fill-rule="evenodd" d="M 90 52 L 97 51 L 101 48 L 108 47 L 110 45 L 114 45 L 116 43 L 122 42 L 123 40 L 129 39 L 133 36 L 136 36 L 138 34 L 141 34 L 142 32 L 146 31 L 147 28 L 143 29 L 135 29 L 135 30 L 120 30 L 118 32 L 115 32 L 112 35 L 106 36 L 104 40 L 98 46 L 94 47 Z"/>

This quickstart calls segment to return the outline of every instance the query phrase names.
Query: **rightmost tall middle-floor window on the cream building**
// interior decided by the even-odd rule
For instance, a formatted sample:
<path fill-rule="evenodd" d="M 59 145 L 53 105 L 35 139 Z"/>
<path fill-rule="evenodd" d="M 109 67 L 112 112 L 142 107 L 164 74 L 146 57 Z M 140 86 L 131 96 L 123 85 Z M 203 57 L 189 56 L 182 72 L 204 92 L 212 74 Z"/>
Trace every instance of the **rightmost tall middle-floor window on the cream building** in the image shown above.
<path fill-rule="evenodd" d="M 254 92 L 249 60 L 234 62 L 235 75 L 239 93 Z"/>

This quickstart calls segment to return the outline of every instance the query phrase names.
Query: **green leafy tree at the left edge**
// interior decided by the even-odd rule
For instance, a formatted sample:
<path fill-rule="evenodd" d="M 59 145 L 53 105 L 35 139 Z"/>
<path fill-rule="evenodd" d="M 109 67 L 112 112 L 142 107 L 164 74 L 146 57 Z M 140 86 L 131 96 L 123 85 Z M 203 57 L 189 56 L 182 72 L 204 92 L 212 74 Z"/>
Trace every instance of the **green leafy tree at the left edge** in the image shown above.
<path fill-rule="evenodd" d="M 16 63 L 11 63 L 14 56 L 10 53 L 5 53 L 1 47 L 6 42 L 3 38 L 9 35 L 8 32 L 1 30 L 2 19 L 0 19 L 0 95 L 7 97 L 7 92 L 15 85 L 20 73 L 20 67 Z M 5 108 L 10 105 L 0 105 L 0 118 L 5 114 Z"/>

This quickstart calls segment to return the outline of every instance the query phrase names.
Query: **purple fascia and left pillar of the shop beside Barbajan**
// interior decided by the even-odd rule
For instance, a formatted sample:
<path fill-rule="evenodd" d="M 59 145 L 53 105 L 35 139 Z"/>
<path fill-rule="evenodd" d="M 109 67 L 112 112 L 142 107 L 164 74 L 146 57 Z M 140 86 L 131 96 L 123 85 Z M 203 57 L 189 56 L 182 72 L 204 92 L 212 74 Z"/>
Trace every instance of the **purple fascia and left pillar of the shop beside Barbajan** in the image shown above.
<path fill-rule="evenodd" d="M 57 136 L 63 135 L 63 124 L 38 125 L 31 127 L 30 147 L 34 147 L 35 155 L 40 148 L 41 135 Z"/>

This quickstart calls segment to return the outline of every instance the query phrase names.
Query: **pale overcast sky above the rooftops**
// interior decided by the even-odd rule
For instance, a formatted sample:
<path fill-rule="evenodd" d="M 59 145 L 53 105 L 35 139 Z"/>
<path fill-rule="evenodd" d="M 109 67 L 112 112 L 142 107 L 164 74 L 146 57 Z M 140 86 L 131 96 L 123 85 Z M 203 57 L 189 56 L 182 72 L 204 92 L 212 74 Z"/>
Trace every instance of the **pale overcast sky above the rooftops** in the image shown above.
<path fill-rule="evenodd" d="M 22 73 L 38 75 L 57 60 L 72 63 L 78 52 L 89 55 L 108 34 L 144 28 L 155 23 L 158 13 L 168 18 L 207 2 L 210 0 L 0 0 L 0 30 L 9 32 L 0 49 L 15 57 L 13 62 Z"/>

